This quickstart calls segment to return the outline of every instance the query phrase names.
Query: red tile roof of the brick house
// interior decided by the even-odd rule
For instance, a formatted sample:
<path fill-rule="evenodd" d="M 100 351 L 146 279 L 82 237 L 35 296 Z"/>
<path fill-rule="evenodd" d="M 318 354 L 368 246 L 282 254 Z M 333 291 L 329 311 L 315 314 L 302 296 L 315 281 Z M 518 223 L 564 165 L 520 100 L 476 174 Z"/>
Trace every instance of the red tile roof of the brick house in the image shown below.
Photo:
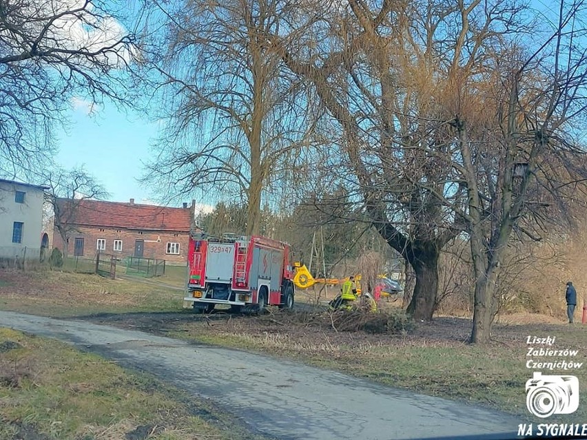
<path fill-rule="evenodd" d="M 168 208 L 84 199 L 75 200 L 71 213 L 68 213 L 72 200 L 60 198 L 57 203 L 64 212 L 61 216 L 63 222 L 80 226 L 189 232 L 192 224 L 189 207 Z"/>

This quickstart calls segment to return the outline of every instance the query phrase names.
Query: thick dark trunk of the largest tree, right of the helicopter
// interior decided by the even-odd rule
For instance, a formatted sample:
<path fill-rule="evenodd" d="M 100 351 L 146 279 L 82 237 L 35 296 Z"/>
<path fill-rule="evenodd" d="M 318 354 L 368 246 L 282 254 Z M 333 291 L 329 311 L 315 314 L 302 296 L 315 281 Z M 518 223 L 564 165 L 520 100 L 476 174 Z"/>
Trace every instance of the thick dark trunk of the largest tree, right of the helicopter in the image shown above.
<path fill-rule="evenodd" d="M 431 321 L 438 291 L 438 260 L 440 251 L 431 244 L 414 252 L 410 264 L 415 273 L 415 286 L 407 313 L 420 321 Z"/>

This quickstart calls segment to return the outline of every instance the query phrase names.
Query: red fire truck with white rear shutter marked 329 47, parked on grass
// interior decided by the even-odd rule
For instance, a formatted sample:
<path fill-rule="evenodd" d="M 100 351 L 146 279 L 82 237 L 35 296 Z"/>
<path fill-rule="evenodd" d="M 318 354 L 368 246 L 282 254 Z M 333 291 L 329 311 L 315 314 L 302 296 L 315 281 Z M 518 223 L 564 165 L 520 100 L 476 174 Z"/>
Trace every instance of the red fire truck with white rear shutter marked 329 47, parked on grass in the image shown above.
<path fill-rule="evenodd" d="M 294 307 L 294 270 L 285 243 L 259 236 L 192 233 L 187 258 L 184 300 L 198 313 L 210 313 L 216 304 L 228 304 L 233 311 Z"/>

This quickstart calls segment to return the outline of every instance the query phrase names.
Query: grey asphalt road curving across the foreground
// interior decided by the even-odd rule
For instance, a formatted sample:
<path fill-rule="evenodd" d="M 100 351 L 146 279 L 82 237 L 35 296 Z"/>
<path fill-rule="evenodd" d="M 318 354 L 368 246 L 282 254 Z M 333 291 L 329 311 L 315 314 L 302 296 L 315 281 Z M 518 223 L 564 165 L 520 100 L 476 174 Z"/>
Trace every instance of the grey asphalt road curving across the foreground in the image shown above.
<path fill-rule="evenodd" d="M 54 337 L 212 399 L 249 428 L 282 440 L 402 440 L 497 434 L 522 420 L 240 350 L 82 321 L 0 311 L 0 326 Z M 523 390 L 520 390 L 523 392 Z"/>

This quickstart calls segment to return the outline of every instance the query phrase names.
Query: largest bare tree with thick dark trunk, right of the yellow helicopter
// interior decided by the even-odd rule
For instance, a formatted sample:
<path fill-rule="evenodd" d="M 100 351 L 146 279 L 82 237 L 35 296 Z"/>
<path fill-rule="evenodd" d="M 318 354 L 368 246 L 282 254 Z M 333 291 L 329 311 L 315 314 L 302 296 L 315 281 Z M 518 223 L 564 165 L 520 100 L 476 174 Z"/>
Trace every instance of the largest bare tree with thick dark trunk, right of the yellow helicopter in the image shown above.
<path fill-rule="evenodd" d="M 487 54 L 519 25 L 522 5 L 349 0 L 339 8 L 313 6 L 318 13 L 296 11 L 289 34 L 274 34 L 271 42 L 292 72 L 313 84 L 329 122 L 340 127 L 331 151 L 344 155 L 342 182 L 413 267 L 409 313 L 431 319 L 440 251 L 466 228 L 453 209 L 466 203 L 448 123 L 464 105 L 455 85 L 482 81 Z"/>

